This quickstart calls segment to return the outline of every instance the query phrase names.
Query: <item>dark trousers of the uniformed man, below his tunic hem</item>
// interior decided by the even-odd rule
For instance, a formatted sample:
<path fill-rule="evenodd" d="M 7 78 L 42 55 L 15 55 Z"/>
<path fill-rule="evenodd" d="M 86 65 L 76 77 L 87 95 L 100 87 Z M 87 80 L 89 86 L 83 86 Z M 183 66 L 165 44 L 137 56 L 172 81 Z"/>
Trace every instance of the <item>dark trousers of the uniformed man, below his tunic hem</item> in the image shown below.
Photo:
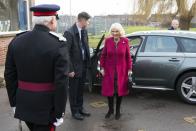
<path fill-rule="evenodd" d="M 30 131 L 55 131 L 55 126 L 50 125 L 38 125 L 31 122 L 25 122 Z"/>

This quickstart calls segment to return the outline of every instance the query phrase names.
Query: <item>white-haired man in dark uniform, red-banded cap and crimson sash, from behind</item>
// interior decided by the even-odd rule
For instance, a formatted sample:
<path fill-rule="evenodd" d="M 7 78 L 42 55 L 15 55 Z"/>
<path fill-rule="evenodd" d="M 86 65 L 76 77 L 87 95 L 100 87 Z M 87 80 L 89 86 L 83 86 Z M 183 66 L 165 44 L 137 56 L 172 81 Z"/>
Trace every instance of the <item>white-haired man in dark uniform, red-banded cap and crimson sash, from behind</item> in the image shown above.
<path fill-rule="evenodd" d="M 66 39 L 56 30 L 57 5 L 31 7 L 35 27 L 9 44 L 5 81 L 15 118 L 31 131 L 54 131 L 63 123 L 68 85 Z"/>

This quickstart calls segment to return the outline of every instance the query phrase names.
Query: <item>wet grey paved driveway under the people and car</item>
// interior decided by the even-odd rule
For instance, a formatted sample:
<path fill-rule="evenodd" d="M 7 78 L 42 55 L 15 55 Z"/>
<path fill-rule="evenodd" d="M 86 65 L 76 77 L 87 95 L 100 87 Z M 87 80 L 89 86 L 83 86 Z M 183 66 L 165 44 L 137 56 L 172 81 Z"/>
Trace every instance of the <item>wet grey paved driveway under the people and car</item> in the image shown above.
<path fill-rule="evenodd" d="M 105 120 L 107 107 L 93 107 L 106 102 L 99 93 L 85 93 L 85 107 L 92 116 L 76 121 L 67 104 L 65 122 L 57 131 L 196 131 L 196 106 L 181 102 L 174 92 L 136 90 L 123 99 L 122 118 Z M 0 130 L 16 131 L 18 120 L 12 118 L 5 89 L 0 89 Z M 189 121 L 186 122 L 184 118 Z M 195 125 L 194 125 L 195 124 Z M 24 131 L 28 131 L 23 123 Z"/>

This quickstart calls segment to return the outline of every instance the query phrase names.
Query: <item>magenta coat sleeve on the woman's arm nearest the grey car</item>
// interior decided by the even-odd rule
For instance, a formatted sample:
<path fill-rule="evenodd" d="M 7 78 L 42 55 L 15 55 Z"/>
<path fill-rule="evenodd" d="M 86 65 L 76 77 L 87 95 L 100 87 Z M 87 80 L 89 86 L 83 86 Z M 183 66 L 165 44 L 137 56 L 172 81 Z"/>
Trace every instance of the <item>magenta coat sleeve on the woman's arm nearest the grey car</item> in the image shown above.
<path fill-rule="evenodd" d="M 126 62 L 128 70 L 132 70 L 132 58 L 130 53 L 130 47 L 129 47 L 129 40 L 126 38 Z"/>

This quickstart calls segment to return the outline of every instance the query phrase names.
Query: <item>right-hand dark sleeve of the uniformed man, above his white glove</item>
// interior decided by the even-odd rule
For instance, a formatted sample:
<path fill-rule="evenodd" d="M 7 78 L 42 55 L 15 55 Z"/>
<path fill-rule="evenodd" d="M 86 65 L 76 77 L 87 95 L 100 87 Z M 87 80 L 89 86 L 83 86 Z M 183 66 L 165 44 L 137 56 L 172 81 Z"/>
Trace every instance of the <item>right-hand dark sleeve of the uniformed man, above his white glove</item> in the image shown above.
<path fill-rule="evenodd" d="M 62 43 L 61 43 L 62 44 Z M 67 44 L 62 44 L 58 49 L 54 63 L 54 106 L 56 118 L 61 118 L 65 111 L 68 89 L 69 55 Z"/>

